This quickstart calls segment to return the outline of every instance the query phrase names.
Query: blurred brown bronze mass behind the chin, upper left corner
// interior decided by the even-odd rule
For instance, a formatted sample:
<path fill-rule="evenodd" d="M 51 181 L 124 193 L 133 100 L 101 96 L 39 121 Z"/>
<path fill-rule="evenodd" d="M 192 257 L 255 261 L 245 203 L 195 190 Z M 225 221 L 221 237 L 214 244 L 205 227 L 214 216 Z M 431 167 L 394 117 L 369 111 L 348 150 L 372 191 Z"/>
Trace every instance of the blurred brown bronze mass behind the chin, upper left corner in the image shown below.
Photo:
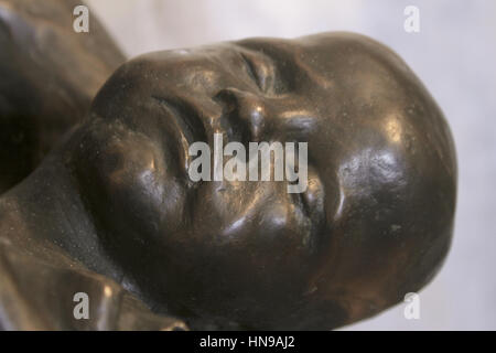
<path fill-rule="evenodd" d="M 89 110 L 125 62 L 98 20 L 73 30 L 73 0 L 0 0 L 0 193 Z"/>

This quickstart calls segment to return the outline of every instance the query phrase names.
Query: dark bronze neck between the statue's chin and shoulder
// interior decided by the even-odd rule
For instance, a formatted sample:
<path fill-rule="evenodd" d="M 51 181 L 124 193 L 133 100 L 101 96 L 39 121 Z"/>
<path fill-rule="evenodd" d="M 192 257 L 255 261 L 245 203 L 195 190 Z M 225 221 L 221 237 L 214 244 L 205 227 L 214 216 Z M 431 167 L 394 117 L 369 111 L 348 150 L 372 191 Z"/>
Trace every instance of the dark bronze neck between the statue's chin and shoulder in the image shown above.
<path fill-rule="evenodd" d="M 120 282 L 121 271 L 105 254 L 90 213 L 64 163 L 67 146 L 62 143 L 30 176 L 0 197 L 0 243 L 18 246 L 56 266 L 83 265 Z"/>

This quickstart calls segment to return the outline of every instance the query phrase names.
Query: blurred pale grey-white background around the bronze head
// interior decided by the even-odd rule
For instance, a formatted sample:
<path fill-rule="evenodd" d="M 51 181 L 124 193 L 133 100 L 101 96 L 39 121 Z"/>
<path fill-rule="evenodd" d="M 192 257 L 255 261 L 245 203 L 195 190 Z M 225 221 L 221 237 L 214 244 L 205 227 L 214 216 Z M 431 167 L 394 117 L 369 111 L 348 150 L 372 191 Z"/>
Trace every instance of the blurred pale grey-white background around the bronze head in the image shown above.
<path fill-rule="evenodd" d="M 496 330 L 496 1 L 87 0 L 128 56 L 248 36 L 353 31 L 392 47 L 444 111 L 459 159 L 451 253 L 420 292 L 344 330 Z M 407 6 L 419 9 L 408 33 Z"/>

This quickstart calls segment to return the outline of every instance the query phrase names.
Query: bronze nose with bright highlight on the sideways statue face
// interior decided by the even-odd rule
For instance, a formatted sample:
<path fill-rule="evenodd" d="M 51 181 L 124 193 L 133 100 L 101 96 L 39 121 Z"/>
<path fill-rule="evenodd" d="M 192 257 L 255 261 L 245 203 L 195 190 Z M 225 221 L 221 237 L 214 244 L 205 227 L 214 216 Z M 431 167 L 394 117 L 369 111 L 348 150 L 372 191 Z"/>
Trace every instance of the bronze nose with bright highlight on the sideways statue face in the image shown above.
<path fill-rule="evenodd" d="M 229 130 L 248 131 L 249 137 L 242 139 L 249 141 L 260 141 L 266 135 L 268 126 L 267 105 L 260 96 L 238 88 L 224 88 L 216 96 L 215 100 L 223 106 L 223 118 Z"/>

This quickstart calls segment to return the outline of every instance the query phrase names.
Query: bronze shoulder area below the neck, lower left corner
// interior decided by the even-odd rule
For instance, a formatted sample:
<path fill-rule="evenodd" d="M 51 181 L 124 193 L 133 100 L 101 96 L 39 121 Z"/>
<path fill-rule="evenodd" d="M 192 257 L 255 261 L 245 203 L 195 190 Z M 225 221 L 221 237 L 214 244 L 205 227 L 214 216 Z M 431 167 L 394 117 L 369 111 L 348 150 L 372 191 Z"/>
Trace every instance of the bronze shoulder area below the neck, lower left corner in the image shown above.
<path fill-rule="evenodd" d="M 61 254 L 51 255 L 61 259 Z M 3 330 L 187 329 L 181 320 L 152 313 L 105 276 L 71 261 L 51 264 L 4 238 L 0 238 L 0 278 Z"/>

